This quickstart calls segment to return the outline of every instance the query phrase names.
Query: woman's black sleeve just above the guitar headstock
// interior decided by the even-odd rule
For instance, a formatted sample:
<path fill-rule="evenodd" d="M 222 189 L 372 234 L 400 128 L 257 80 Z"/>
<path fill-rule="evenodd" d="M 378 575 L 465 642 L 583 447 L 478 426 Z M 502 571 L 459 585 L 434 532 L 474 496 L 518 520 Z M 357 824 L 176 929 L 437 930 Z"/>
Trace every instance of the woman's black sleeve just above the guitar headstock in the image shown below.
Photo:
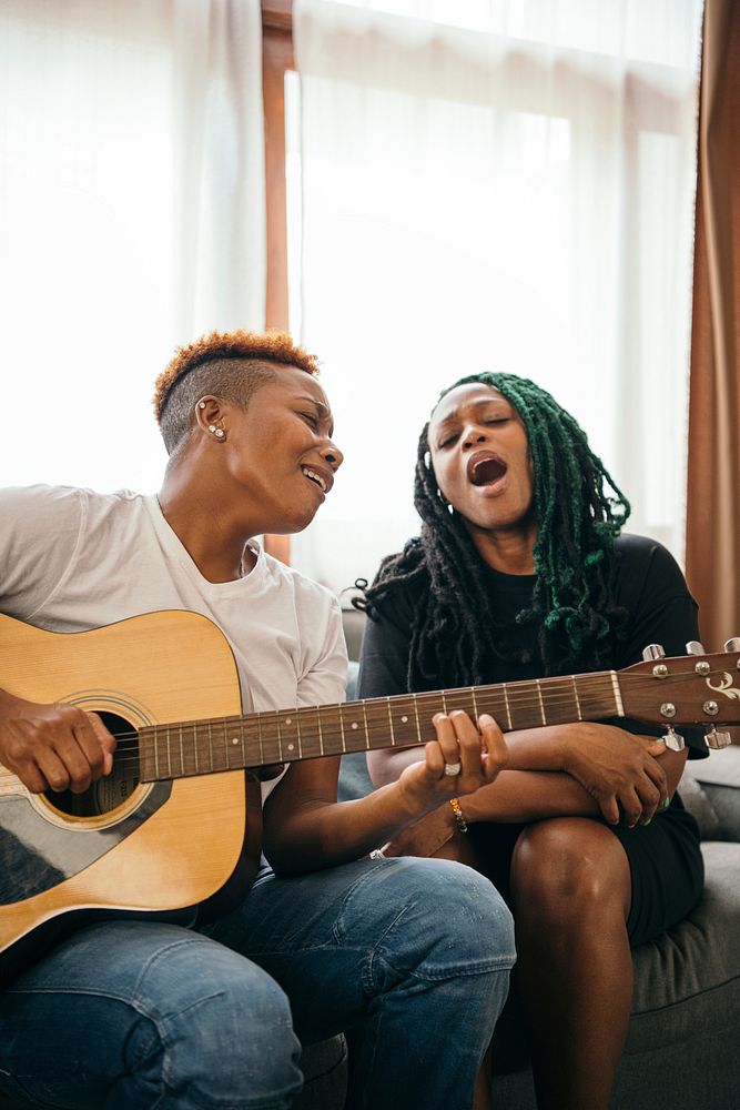
<path fill-rule="evenodd" d="M 659 644 L 667 656 L 686 655 L 688 642 L 699 639 L 698 606 L 670 552 L 653 539 L 622 536 L 617 567 L 617 603 L 627 608 L 629 620 L 616 666 L 640 663 L 648 644 Z M 658 726 L 626 720 L 620 724 L 633 733 L 665 735 Z M 690 757 L 708 754 L 701 728 L 677 731 L 683 736 Z"/>

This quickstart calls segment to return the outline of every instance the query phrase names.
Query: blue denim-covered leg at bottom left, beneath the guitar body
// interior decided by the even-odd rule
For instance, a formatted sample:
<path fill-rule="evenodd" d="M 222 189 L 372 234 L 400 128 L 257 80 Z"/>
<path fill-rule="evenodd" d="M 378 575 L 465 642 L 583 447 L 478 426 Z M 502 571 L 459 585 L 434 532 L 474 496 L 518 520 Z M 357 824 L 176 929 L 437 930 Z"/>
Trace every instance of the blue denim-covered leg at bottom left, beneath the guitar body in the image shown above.
<path fill-rule="evenodd" d="M 287 999 L 196 932 L 110 921 L 75 934 L 0 996 L 11 1090 L 43 1106 L 287 1110 L 301 1090 Z M 43 1052 L 37 1047 L 43 1030 Z"/>

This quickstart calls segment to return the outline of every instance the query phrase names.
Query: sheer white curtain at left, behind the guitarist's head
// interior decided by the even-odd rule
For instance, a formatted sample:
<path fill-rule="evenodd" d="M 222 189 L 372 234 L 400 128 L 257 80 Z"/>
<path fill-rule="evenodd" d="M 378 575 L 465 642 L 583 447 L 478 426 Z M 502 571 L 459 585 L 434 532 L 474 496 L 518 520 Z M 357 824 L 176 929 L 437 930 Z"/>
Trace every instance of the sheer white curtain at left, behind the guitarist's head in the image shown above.
<path fill-rule="evenodd" d="M 155 488 L 153 381 L 264 326 L 259 0 L 0 4 L 0 482 Z"/>

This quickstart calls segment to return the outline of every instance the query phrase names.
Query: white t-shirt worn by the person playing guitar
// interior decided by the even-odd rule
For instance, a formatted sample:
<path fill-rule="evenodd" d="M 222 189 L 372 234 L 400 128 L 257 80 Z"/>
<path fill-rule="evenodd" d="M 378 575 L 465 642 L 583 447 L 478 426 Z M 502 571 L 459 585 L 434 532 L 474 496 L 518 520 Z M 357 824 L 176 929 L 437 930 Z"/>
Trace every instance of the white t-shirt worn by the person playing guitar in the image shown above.
<path fill-rule="evenodd" d="M 257 561 L 250 574 L 207 582 L 154 495 L 0 490 L 0 612 L 50 632 L 81 632 L 190 609 L 231 644 L 245 712 L 343 702 L 347 657 L 336 598 L 251 546 Z"/>

